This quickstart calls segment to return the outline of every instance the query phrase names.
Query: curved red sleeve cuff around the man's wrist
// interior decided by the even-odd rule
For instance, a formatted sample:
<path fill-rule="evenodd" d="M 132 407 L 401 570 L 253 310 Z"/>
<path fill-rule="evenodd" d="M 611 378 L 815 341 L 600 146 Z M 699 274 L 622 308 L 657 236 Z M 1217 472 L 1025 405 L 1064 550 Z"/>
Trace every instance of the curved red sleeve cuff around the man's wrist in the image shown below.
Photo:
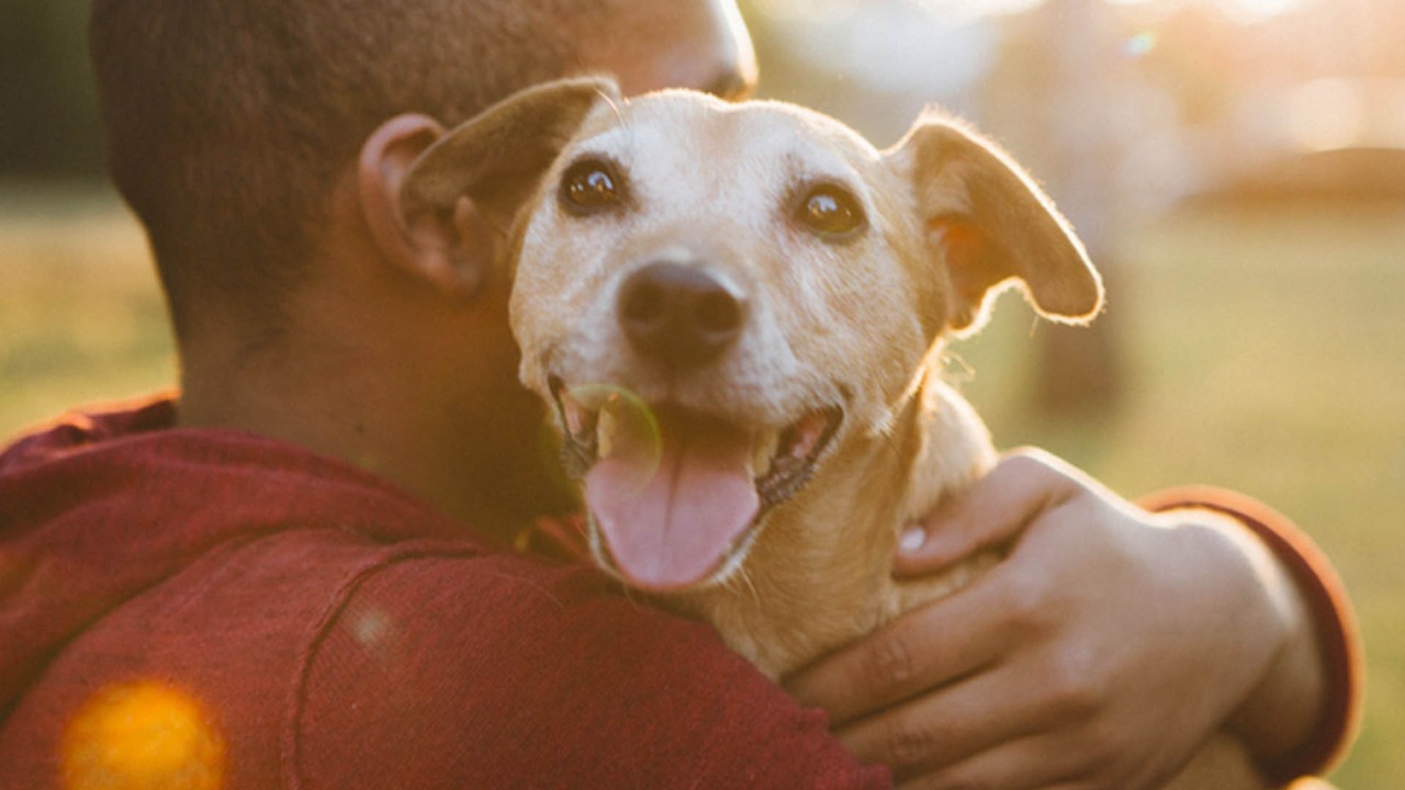
<path fill-rule="evenodd" d="M 1346 589 L 1326 555 L 1287 517 L 1263 503 L 1217 488 L 1179 488 L 1141 500 L 1148 510 L 1201 509 L 1229 516 L 1259 536 L 1293 576 L 1316 628 L 1328 672 L 1326 710 L 1307 742 L 1264 765 L 1274 782 L 1322 775 L 1339 760 L 1361 717 L 1364 678 L 1360 633 Z"/>

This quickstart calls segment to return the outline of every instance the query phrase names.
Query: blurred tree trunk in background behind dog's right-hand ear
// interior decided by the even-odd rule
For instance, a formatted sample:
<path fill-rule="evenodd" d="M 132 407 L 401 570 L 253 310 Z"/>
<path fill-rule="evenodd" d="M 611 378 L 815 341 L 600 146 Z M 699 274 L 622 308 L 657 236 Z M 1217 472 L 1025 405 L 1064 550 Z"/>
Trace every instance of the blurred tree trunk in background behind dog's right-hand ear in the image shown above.
<path fill-rule="evenodd" d="M 1047 0 L 1010 21 L 985 117 L 1072 221 L 1120 302 L 1116 243 L 1127 222 L 1118 174 L 1130 129 L 1118 108 L 1137 90 L 1113 14 L 1100 0 Z M 1121 388 L 1117 311 L 1090 328 L 1038 330 L 1034 405 L 1072 417 L 1116 406 Z"/>

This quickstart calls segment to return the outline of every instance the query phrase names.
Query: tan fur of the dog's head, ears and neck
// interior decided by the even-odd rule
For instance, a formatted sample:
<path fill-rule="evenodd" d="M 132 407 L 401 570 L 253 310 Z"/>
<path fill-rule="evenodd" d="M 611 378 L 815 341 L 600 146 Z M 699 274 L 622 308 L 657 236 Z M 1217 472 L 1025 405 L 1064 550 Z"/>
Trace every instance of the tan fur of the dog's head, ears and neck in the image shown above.
<path fill-rule="evenodd" d="M 628 171 L 629 204 L 607 219 L 558 205 L 565 169 L 586 155 Z M 815 179 L 850 187 L 867 231 L 826 243 L 794 228 L 788 190 Z M 920 582 L 891 574 L 902 526 L 995 458 L 979 417 L 941 382 L 944 339 L 979 328 L 991 294 L 1009 284 L 1057 320 L 1087 320 L 1102 304 L 1097 274 L 1050 201 L 999 150 L 936 114 L 880 152 L 788 104 L 690 91 L 625 103 L 606 82 L 566 80 L 450 132 L 403 195 L 412 218 L 466 195 L 510 228 L 521 377 L 548 401 L 551 377 L 610 382 L 757 430 L 843 406 L 813 478 L 762 519 L 750 551 L 659 596 L 711 621 L 771 678 L 996 561 Z M 705 260 L 753 308 L 721 360 L 667 380 L 634 358 L 614 315 L 621 278 L 659 259 Z M 599 558 L 610 569 L 608 554 Z M 1187 775 L 1184 786 L 1257 786 L 1242 751 L 1224 752 L 1194 769 L 1213 780 Z"/>

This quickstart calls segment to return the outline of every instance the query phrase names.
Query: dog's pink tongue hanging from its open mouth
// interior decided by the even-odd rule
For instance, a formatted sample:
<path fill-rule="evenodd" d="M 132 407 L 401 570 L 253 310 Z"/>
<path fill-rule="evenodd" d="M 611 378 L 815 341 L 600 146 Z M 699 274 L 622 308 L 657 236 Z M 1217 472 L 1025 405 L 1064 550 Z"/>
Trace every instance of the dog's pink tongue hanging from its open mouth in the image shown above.
<path fill-rule="evenodd" d="M 663 415 L 660 429 L 659 467 L 646 482 L 629 454 L 601 460 L 586 475 L 586 502 L 615 568 L 652 590 L 705 579 L 760 509 L 743 432 Z"/>

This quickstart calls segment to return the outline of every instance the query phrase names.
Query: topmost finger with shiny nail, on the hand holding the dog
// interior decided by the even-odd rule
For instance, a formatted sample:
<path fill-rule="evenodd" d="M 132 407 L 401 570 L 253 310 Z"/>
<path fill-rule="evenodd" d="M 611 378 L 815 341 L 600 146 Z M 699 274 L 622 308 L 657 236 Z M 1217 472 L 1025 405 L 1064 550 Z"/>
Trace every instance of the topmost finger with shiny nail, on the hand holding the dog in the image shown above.
<path fill-rule="evenodd" d="M 976 551 L 1006 545 L 1040 513 L 1089 485 L 1092 481 L 1082 472 L 1047 453 L 1012 453 L 991 474 L 943 500 L 934 513 L 903 533 L 894 575 L 932 574 Z"/>

